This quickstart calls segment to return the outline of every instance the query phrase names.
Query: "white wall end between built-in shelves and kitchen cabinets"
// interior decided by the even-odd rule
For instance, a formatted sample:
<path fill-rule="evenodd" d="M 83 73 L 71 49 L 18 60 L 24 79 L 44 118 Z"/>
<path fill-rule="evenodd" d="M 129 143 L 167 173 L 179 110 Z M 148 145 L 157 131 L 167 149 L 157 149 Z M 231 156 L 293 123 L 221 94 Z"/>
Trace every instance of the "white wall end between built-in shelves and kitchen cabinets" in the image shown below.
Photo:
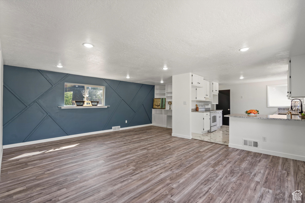
<path fill-rule="evenodd" d="M 192 139 L 191 133 L 192 73 L 173 76 L 173 131 L 172 136 Z M 183 102 L 186 102 L 186 105 Z"/>

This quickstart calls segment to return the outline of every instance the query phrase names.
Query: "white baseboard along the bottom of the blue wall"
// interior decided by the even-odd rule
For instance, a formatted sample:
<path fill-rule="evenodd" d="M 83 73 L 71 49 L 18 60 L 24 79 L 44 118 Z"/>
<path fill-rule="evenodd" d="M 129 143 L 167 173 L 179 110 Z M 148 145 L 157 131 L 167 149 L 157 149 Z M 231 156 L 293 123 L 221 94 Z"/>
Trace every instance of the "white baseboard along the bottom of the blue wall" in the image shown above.
<path fill-rule="evenodd" d="M 145 127 L 145 126 L 151 126 L 151 125 L 152 124 L 145 124 L 145 125 L 139 125 L 139 126 L 124 127 L 124 128 L 121 128 L 120 130 L 126 130 L 126 129 L 131 129 L 131 128 L 138 128 L 138 127 Z M 89 132 L 89 133 L 81 133 L 81 134 L 76 134 L 76 135 L 67 135 L 67 136 L 63 136 L 63 137 L 54 137 L 54 138 L 49 138 L 49 139 L 44 139 L 44 140 L 35 140 L 35 141 L 22 142 L 22 143 L 16 143 L 16 144 L 7 144 L 7 145 L 3 145 L 3 149 L 12 148 L 12 147 L 20 147 L 20 146 L 25 146 L 25 145 L 30 145 L 30 144 L 38 144 L 38 143 L 42 143 L 42 142 L 63 140 L 63 139 L 68 139 L 68 138 L 72 138 L 72 137 L 81 137 L 81 136 L 86 136 L 86 135 L 106 133 L 106 132 L 112 132 L 112 129 L 111 130 L 101 130 L 101 131 Z"/>

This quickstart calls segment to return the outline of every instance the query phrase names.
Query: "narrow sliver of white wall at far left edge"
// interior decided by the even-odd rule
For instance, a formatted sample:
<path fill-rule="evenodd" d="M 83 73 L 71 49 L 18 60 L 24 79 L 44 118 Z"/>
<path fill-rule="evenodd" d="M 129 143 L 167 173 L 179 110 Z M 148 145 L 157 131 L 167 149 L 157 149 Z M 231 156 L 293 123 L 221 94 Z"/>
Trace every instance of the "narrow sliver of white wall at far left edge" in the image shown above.
<path fill-rule="evenodd" d="M 0 173 L 1 173 L 1 162 L 3 154 L 3 145 L 2 145 L 2 132 L 3 132 L 3 59 L 2 59 L 2 49 L 0 41 Z"/>

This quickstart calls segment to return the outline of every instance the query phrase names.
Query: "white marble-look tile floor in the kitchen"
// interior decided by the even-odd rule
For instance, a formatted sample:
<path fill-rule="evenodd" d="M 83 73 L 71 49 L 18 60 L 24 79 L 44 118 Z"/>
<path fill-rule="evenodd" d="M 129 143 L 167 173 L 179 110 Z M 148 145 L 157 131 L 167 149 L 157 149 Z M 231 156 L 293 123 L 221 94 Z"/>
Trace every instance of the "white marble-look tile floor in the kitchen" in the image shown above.
<path fill-rule="evenodd" d="M 229 145 L 229 126 L 223 125 L 211 133 L 192 133 L 192 138 L 195 140 L 203 140 L 207 142 Z"/>

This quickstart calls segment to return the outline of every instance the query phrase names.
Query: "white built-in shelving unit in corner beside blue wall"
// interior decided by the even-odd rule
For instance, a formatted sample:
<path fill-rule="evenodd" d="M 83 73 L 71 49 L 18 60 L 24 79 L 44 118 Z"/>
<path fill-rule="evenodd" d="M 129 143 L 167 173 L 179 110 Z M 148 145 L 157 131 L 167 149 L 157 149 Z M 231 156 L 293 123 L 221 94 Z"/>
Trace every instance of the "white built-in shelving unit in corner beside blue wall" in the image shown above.
<path fill-rule="evenodd" d="M 165 109 L 152 109 L 152 125 L 172 128 L 172 108 L 168 105 L 169 101 L 173 101 L 173 85 L 164 84 L 155 86 L 155 98 L 166 98 Z M 171 109 L 169 109 L 169 107 Z"/>

